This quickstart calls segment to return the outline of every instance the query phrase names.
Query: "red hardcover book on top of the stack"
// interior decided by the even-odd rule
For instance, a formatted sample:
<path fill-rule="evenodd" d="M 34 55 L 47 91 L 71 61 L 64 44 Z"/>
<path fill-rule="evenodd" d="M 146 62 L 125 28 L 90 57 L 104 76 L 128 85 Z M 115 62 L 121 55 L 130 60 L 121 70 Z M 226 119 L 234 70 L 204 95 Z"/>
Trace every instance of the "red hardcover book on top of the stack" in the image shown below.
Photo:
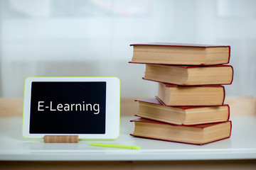
<path fill-rule="evenodd" d="M 230 46 L 178 43 L 132 44 L 132 63 L 211 65 L 228 64 Z"/>

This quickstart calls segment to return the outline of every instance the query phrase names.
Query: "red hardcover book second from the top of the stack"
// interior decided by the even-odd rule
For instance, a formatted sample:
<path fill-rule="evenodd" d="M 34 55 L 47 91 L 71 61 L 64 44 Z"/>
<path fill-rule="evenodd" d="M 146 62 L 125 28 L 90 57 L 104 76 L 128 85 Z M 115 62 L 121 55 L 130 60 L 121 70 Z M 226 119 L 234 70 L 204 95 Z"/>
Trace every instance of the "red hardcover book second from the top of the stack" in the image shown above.
<path fill-rule="evenodd" d="M 181 86 L 231 84 L 233 67 L 230 65 L 198 67 L 146 64 L 144 79 Z"/>

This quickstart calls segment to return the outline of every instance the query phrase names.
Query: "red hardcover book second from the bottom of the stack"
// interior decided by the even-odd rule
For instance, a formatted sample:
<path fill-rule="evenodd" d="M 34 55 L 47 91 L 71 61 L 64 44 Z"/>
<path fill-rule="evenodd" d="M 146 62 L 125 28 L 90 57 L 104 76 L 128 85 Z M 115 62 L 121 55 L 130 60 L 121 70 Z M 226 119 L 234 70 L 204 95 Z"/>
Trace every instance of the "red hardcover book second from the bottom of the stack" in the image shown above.
<path fill-rule="evenodd" d="M 198 125 L 228 121 L 230 109 L 221 106 L 164 106 L 156 98 L 137 99 L 139 111 L 137 115 L 150 120 L 172 123 L 176 125 Z"/>

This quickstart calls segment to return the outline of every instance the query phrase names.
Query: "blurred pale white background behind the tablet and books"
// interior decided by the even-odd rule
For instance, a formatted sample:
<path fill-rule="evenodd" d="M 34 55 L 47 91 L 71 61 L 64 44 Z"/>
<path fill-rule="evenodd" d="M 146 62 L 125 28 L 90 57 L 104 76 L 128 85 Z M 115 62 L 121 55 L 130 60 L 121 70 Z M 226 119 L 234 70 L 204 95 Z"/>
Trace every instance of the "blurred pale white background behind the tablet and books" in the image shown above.
<path fill-rule="evenodd" d="M 0 0 L 0 96 L 23 97 L 26 77 L 119 77 L 121 97 L 156 96 L 140 42 L 230 45 L 227 96 L 256 96 L 254 0 Z"/>

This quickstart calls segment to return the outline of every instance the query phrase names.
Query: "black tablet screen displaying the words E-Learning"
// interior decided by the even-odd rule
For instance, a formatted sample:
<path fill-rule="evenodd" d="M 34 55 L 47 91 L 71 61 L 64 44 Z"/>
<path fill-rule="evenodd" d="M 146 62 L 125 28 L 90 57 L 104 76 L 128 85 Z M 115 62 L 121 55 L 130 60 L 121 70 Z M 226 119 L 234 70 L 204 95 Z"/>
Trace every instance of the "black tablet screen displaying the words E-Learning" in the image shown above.
<path fill-rule="evenodd" d="M 106 82 L 31 83 L 31 134 L 105 134 Z"/>

